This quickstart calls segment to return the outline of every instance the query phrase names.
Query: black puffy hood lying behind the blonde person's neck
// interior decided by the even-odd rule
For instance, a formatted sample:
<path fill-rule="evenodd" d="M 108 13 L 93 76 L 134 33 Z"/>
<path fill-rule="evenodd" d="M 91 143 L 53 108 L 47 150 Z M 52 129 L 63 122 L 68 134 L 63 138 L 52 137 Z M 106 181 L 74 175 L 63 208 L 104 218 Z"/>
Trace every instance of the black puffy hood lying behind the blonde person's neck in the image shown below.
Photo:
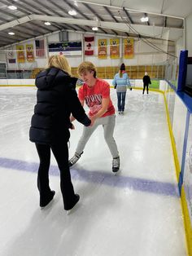
<path fill-rule="evenodd" d="M 55 80 L 59 77 L 68 77 L 68 73 L 63 72 L 59 68 L 47 68 L 37 74 L 35 85 L 40 90 L 46 90 L 55 86 Z"/>

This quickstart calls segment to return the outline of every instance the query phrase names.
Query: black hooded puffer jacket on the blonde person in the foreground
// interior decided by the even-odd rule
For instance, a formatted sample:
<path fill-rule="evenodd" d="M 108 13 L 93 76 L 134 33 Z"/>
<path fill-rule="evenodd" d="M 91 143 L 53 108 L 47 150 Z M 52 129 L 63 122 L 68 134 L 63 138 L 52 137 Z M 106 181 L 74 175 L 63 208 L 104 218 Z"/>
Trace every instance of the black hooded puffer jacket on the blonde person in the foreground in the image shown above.
<path fill-rule="evenodd" d="M 76 78 L 59 68 L 48 68 L 38 73 L 37 104 L 29 131 L 29 139 L 35 143 L 68 142 L 70 115 L 89 126 L 90 120 L 76 94 Z"/>

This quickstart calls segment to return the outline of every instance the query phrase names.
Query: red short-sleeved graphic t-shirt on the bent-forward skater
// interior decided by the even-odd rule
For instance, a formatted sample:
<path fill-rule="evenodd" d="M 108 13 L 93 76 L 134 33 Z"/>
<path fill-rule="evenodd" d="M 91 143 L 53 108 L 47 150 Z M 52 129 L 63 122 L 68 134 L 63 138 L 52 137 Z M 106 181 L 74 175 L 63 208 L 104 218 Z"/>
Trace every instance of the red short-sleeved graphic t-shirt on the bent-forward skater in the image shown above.
<path fill-rule="evenodd" d="M 89 107 L 89 116 L 92 117 L 102 108 L 102 99 L 110 98 L 110 86 L 106 81 L 97 78 L 93 87 L 84 83 L 78 91 L 78 97 L 80 100 L 85 100 L 85 104 Z M 107 112 L 102 117 L 111 116 L 114 113 L 115 108 L 110 98 Z"/>

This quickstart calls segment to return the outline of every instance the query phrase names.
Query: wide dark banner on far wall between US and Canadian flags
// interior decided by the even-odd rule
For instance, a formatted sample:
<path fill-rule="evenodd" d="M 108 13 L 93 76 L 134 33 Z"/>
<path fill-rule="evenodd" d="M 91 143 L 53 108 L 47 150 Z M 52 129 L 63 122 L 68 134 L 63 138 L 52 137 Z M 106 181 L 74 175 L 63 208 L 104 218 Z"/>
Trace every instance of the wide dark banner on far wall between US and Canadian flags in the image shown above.
<path fill-rule="evenodd" d="M 82 54 L 81 41 L 49 43 L 49 55 L 75 56 Z"/>

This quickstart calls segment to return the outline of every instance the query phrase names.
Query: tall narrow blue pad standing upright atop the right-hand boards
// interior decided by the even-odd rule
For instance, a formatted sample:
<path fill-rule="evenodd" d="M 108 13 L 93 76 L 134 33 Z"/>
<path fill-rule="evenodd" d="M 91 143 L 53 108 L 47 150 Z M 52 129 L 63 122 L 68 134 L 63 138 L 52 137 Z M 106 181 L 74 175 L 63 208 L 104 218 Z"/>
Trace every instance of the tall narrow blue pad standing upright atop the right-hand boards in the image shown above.
<path fill-rule="evenodd" d="M 177 91 L 182 91 L 184 86 L 185 86 L 187 57 L 188 57 L 188 51 L 187 50 L 180 52 L 179 76 L 178 76 L 178 83 L 177 83 Z"/>

